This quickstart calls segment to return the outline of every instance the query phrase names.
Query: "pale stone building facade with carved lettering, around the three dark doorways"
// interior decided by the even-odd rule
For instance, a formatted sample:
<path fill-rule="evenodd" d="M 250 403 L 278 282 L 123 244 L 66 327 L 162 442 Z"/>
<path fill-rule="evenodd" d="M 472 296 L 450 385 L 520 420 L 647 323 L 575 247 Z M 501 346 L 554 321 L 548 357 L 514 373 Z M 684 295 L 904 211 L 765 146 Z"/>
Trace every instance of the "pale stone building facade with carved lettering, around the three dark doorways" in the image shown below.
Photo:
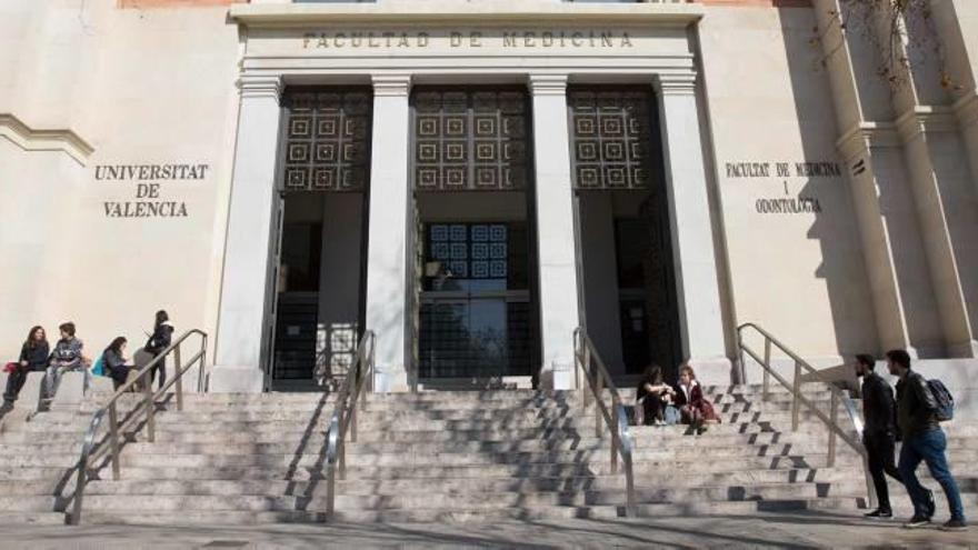
<path fill-rule="evenodd" d="M 840 30 L 839 9 L 4 2 L 0 352 L 14 356 L 31 324 L 68 319 L 90 354 L 117 334 L 141 343 L 166 308 L 178 332 L 216 334 L 213 388 L 261 390 L 280 98 L 362 86 L 373 90 L 365 324 L 379 334 L 380 387 L 405 389 L 411 89 L 506 83 L 527 90 L 537 129 L 539 361 L 566 388 L 585 309 L 566 93 L 616 83 L 657 98 L 682 356 L 701 376 L 755 376 L 738 368 L 744 322 L 821 366 L 894 347 L 975 358 L 978 6 L 936 0 L 931 27 L 910 24 L 940 56 L 909 52 L 899 86 L 877 74 L 872 30 Z M 976 386 L 959 372 L 974 362 L 940 364 Z"/>

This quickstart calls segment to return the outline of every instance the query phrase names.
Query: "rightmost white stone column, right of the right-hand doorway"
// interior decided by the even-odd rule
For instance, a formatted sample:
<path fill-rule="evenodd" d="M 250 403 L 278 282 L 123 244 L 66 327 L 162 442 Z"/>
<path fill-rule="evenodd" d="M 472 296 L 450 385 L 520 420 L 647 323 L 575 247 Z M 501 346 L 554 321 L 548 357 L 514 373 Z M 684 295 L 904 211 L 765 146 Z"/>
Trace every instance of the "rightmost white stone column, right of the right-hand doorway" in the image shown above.
<path fill-rule="evenodd" d="M 656 91 L 683 357 L 705 382 L 729 383 L 696 76 L 660 74 Z"/>

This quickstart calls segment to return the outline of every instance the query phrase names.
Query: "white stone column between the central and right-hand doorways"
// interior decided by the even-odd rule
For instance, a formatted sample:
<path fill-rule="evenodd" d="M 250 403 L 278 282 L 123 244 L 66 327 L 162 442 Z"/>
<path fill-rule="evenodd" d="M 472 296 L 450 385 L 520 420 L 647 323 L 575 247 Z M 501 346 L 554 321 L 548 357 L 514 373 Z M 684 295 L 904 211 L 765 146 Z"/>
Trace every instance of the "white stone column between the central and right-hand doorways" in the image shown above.
<path fill-rule="evenodd" d="M 567 74 L 531 74 L 536 163 L 540 343 L 545 388 L 573 384 L 573 329 L 580 324 Z"/>

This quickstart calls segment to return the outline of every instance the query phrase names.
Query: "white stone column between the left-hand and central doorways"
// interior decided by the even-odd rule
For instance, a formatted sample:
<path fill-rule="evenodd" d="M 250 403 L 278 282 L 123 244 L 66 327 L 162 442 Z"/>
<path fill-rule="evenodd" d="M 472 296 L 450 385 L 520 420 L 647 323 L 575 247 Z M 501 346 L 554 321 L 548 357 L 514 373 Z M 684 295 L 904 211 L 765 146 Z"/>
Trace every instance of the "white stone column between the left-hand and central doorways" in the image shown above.
<path fill-rule="evenodd" d="M 373 77 L 367 330 L 377 336 L 375 391 L 407 391 L 409 74 Z"/>

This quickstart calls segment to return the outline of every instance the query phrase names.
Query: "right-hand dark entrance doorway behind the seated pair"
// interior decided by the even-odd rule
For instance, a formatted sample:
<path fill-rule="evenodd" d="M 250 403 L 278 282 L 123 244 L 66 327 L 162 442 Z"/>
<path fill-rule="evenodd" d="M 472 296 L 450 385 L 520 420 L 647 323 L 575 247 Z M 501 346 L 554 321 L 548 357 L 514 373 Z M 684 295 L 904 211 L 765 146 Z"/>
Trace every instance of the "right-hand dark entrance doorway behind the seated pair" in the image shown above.
<path fill-rule="evenodd" d="M 612 376 L 682 358 L 656 98 L 648 87 L 568 91 L 585 323 Z"/>

